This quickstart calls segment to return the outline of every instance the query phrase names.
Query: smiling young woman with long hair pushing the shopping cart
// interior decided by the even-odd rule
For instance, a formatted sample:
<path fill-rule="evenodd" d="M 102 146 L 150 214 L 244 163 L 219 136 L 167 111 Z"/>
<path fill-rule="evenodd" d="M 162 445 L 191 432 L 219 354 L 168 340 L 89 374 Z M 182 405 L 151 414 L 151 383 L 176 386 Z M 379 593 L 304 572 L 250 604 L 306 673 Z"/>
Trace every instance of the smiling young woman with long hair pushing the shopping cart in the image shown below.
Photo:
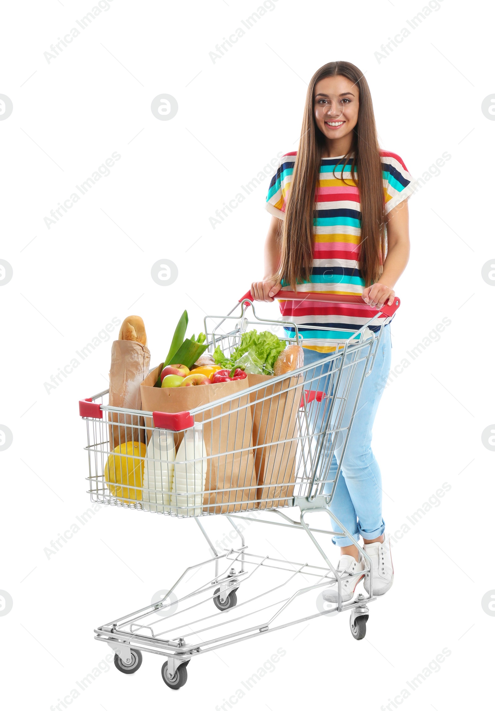
<path fill-rule="evenodd" d="M 391 304 L 409 257 L 407 200 L 414 189 L 401 158 L 379 149 L 371 94 L 359 69 L 349 62 L 330 62 L 317 70 L 308 87 L 299 149 L 281 158 L 271 180 L 265 276 L 251 285 L 254 299 L 281 299 L 283 316 L 298 324 L 305 365 L 334 352 L 330 343 L 321 345 L 322 339 L 349 338 L 377 311 L 359 304 L 283 301 L 283 289 L 361 294 L 369 306 Z M 364 379 L 331 504 L 344 528 L 364 540 L 374 563 L 375 595 L 393 583 L 390 540 L 381 515 L 381 474 L 371 451 L 374 417 L 390 370 L 390 321 L 385 321 L 373 370 Z M 359 377 L 353 383 L 357 387 Z M 328 479 L 337 471 L 341 445 L 337 440 Z M 342 533 L 337 525 L 334 530 Z M 332 540 L 340 547 L 338 569 L 347 601 L 364 577 L 364 560 L 347 535 Z M 367 580 L 364 585 L 369 587 Z M 329 588 L 324 597 L 337 602 L 337 589 Z"/>

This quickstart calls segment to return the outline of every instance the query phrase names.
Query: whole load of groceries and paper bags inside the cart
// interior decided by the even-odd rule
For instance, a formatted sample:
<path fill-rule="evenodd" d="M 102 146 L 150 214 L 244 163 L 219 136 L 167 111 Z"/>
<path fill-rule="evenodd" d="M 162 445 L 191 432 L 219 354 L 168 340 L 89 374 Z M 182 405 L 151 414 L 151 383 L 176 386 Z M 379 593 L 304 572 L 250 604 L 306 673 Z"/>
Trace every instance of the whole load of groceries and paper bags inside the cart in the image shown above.
<path fill-rule="evenodd" d="M 124 319 L 111 351 L 102 498 L 180 516 L 284 505 L 303 384 L 300 375 L 271 381 L 303 367 L 303 348 L 256 328 L 187 336 L 188 325 L 184 311 L 150 371 L 143 320 Z M 161 426 L 157 413 L 192 417 Z"/>

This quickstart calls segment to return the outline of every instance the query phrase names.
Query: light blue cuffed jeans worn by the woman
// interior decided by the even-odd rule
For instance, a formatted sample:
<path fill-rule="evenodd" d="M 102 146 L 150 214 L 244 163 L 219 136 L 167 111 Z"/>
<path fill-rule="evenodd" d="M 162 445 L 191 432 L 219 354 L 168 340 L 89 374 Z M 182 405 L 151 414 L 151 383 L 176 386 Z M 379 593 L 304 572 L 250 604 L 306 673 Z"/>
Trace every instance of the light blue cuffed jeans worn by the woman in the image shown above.
<path fill-rule="evenodd" d="M 388 372 L 390 370 L 391 348 L 390 325 L 388 325 L 384 326 L 378 351 L 376 352 L 373 370 L 371 370 L 367 378 L 364 378 L 352 429 L 347 442 L 347 448 L 344 453 L 344 459 L 342 460 L 342 469 L 334 491 L 334 498 L 332 498 L 330 503 L 330 511 L 335 513 L 337 518 L 342 521 L 342 525 L 344 525 L 349 533 L 357 540 L 359 540 L 359 535 L 366 538 L 366 540 L 379 538 L 385 530 L 385 522 L 381 515 L 381 473 L 378 462 L 371 451 L 371 433 L 376 410 L 378 410 L 380 398 L 384 392 Z M 376 343 L 373 345 L 371 358 L 375 350 Z M 304 365 L 317 363 L 318 360 L 325 358 L 325 356 L 325 353 L 317 353 L 317 351 L 311 351 L 305 348 Z M 349 360 L 350 356 L 347 355 L 347 362 L 349 362 Z M 359 363 L 356 366 L 340 427 L 347 427 L 349 424 L 364 365 L 364 363 Z M 335 367 L 334 361 L 317 366 L 315 370 L 310 370 L 306 377 L 313 378 L 315 375 L 325 376 L 325 374 L 328 374 L 329 371 L 332 370 L 332 367 Z M 330 377 L 326 375 L 326 377 L 322 377 L 321 380 L 314 380 L 310 385 L 308 384 L 308 387 L 310 387 L 311 390 L 325 390 L 325 392 L 327 392 L 329 383 Z M 341 397 L 343 389 L 344 382 L 339 386 L 339 392 L 330 392 L 327 394 L 332 397 L 335 395 Z M 329 411 L 330 402 L 331 397 L 325 398 L 325 400 L 323 400 L 325 407 L 320 406 L 317 409 L 316 417 L 312 418 L 313 421 L 311 425 L 312 428 L 317 427 L 316 431 L 322 429 L 322 420 L 325 419 L 325 414 Z M 337 409 L 339 408 L 337 408 L 336 404 L 335 411 L 337 411 Z M 334 428 L 335 422 L 330 422 L 330 426 Z M 313 429 L 313 431 L 315 431 L 315 429 Z M 332 461 L 330 462 L 327 483 L 325 483 L 325 488 L 323 489 L 323 493 L 325 494 L 330 494 L 332 490 L 335 474 L 337 473 L 337 461 L 340 460 L 344 444 L 344 434 L 342 432 L 334 434 L 333 436 L 337 437 L 337 443 Z M 330 449 L 330 443 L 327 443 L 327 448 L 325 449 Z M 328 454 L 330 454 L 330 452 L 322 452 L 322 460 L 320 460 L 318 469 L 325 470 L 325 467 L 328 465 L 325 457 L 327 457 Z M 342 529 L 339 528 L 335 522 L 334 531 L 336 533 L 342 533 Z M 353 543 L 347 536 L 332 538 L 332 542 L 339 547 L 352 545 Z"/>

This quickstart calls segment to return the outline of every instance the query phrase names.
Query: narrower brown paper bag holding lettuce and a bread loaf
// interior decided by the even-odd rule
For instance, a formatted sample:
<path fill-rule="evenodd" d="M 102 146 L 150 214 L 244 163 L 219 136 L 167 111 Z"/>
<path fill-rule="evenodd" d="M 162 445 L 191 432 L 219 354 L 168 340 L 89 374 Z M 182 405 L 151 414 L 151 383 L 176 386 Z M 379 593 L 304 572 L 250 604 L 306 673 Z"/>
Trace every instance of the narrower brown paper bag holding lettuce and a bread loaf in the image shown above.
<path fill-rule="evenodd" d="M 248 375 L 253 417 L 253 447 L 259 508 L 287 506 L 293 496 L 295 456 L 298 449 L 298 410 L 303 378 L 285 378 L 271 384 L 270 375 Z M 256 402 L 258 401 L 258 402 Z"/>

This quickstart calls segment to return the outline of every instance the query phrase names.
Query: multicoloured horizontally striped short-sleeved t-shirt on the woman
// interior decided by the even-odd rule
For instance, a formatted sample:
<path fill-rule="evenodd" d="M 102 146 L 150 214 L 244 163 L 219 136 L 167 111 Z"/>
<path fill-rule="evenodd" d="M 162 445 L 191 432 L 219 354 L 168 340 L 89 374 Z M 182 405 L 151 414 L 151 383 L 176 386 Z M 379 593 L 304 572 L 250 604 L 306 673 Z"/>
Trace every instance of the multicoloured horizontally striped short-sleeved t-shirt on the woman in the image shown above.
<path fill-rule="evenodd" d="M 290 191 L 296 151 L 281 157 L 276 174 L 271 179 L 266 209 L 278 218 L 285 218 L 285 206 Z M 414 180 L 401 158 L 395 153 L 380 151 L 385 196 L 385 212 L 408 198 L 415 191 Z M 361 208 L 359 189 L 351 175 L 352 156 L 342 166 L 342 158 L 324 158 L 320 168 L 320 181 L 315 198 L 314 245 L 312 272 L 309 282 L 298 284 L 300 292 L 322 294 L 362 294 L 364 279 L 359 271 L 359 244 L 361 242 Z M 333 172 L 335 171 L 335 177 Z M 342 171 L 343 178 L 342 180 Z M 358 171 L 356 169 L 356 174 Z M 345 182 L 344 182 L 345 181 Z M 345 184 L 347 183 L 347 185 Z M 287 282 L 283 289 L 291 291 Z M 282 290 L 283 290 L 282 289 Z M 282 295 L 282 293 L 280 292 Z M 298 324 L 305 346 L 317 351 L 333 351 L 332 347 L 317 346 L 314 339 L 346 339 L 357 331 L 375 309 L 360 304 L 332 304 L 325 301 L 280 300 L 283 316 Z M 384 316 L 381 317 L 385 318 Z M 391 317 L 386 319 L 387 324 Z M 321 326 L 325 331 L 304 326 Z M 379 326 L 371 326 L 374 331 Z M 293 330 L 293 329 L 292 329 Z M 313 339 L 313 343 L 311 340 Z"/>

